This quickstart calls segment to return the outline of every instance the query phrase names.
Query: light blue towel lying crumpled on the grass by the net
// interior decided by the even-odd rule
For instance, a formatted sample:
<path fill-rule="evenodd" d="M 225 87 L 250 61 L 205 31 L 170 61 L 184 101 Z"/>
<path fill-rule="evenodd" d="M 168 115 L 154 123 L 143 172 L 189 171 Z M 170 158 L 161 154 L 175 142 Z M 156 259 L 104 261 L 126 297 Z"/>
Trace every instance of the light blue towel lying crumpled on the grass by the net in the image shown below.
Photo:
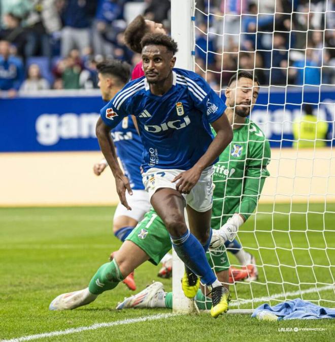
<path fill-rule="evenodd" d="M 262 304 L 254 310 L 251 317 L 256 317 L 257 313 L 262 311 L 275 314 L 283 320 L 335 318 L 335 309 L 312 304 L 311 302 L 299 298 L 288 300 L 275 306 Z"/>

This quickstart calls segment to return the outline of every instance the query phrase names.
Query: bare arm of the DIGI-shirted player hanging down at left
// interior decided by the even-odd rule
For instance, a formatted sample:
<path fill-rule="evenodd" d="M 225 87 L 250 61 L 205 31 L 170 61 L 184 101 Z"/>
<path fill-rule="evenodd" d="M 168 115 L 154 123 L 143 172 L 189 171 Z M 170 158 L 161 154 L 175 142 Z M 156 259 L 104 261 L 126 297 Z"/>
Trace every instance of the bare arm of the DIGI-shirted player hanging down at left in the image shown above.
<path fill-rule="evenodd" d="M 112 173 L 114 175 L 116 191 L 119 195 L 120 202 L 128 210 L 131 210 L 125 197 L 126 190 L 130 195 L 132 195 L 129 179 L 123 174 L 120 165 L 117 161 L 115 146 L 110 135 L 110 130 L 111 128 L 106 125 L 106 123 L 102 120 L 101 117 L 99 117 L 95 128 L 96 137 L 98 139 L 100 148 L 107 160 L 107 163 L 110 166 Z"/>

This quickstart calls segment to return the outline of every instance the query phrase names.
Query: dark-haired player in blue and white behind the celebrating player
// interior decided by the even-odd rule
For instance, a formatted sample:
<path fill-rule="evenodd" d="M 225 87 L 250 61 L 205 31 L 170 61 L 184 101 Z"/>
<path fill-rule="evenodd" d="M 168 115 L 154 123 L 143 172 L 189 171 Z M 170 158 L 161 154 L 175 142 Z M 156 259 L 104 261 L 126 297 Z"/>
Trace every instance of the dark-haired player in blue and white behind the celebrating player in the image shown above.
<path fill-rule="evenodd" d="M 110 101 L 126 84 L 130 77 L 130 67 L 118 60 L 106 60 L 97 65 L 98 86 L 104 101 Z M 144 189 L 141 175 L 143 144 L 135 128 L 131 115 L 124 117 L 111 131 L 112 139 L 116 147 L 117 156 L 122 164 L 125 176 L 129 179 L 132 196 L 126 193 L 127 201 L 132 210 L 127 210 L 121 203 L 116 207 L 113 217 L 113 232 L 120 240 L 124 241 L 133 228 L 142 221 L 145 213 L 150 210 L 151 204 L 148 193 Z M 108 166 L 104 159 L 94 164 L 93 171 L 99 176 Z M 112 260 L 114 253 L 111 254 Z M 166 254 L 162 263 L 172 259 L 171 254 Z M 136 284 L 133 272 L 124 278 L 123 283 L 135 291 Z"/>

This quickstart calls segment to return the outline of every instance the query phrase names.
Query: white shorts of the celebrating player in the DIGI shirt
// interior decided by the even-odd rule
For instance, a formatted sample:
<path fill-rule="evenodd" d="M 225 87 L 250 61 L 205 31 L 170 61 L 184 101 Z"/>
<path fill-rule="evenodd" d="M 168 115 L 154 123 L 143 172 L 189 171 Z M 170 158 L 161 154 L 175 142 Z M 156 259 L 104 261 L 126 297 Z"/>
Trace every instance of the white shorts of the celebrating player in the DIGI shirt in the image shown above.
<path fill-rule="evenodd" d="M 152 195 L 161 188 L 176 189 L 176 182 L 172 180 L 184 170 L 151 168 L 142 174 L 145 190 Z M 213 204 L 213 180 L 214 169 L 212 166 L 206 168 L 198 182 L 193 186 L 189 194 L 182 194 L 186 203 L 196 211 L 207 211 Z"/>

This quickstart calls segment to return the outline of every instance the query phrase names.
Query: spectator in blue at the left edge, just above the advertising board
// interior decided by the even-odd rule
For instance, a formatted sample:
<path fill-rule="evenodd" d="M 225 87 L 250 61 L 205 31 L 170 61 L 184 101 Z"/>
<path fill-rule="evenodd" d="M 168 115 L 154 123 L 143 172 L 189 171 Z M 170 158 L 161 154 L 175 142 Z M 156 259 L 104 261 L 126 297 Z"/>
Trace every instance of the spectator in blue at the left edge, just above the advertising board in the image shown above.
<path fill-rule="evenodd" d="M 8 41 L 0 41 L 0 90 L 8 90 L 8 96 L 14 98 L 24 78 L 22 62 L 10 55 Z"/>

